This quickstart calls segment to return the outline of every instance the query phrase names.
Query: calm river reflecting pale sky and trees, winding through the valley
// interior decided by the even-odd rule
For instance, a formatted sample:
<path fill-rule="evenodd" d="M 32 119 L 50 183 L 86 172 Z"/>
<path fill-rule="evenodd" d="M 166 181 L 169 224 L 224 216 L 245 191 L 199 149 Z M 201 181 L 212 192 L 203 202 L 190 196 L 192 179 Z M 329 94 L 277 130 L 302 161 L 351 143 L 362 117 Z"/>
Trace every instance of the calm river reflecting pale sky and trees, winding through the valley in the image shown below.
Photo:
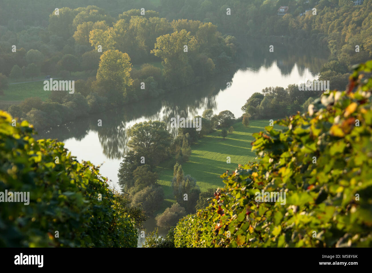
<path fill-rule="evenodd" d="M 202 84 L 168 92 L 162 98 L 79 118 L 41 132 L 37 138 L 57 138 L 78 160 L 89 160 L 94 165 L 103 163 L 100 173 L 110 179 L 110 188 L 119 190 L 117 173 L 127 151 L 128 127 L 148 120 L 170 124 L 171 117 L 201 115 L 205 109 L 213 109 L 215 114 L 230 110 L 235 117 L 240 117 L 243 114 L 241 107 L 254 92 L 260 92 L 265 87 L 286 88 L 306 79 L 317 79 L 321 65 L 327 61 L 326 52 L 305 51 L 301 46 L 279 43 L 274 52 L 269 53 L 269 43 L 267 52 L 263 49 L 266 44 L 256 44 L 261 46 L 260 49 L 255 52 L 254 48 L 247 47 L 238 61 L 239 68 L 234 71 Z M 102 127 L 98 126 L 98 119 L 102 120 Z M 175 134 L 174 131 L 171 133 Z M 148 231 L 154 227 L 154 218 L 145 222 Z M 164 236 L 166 231 L 160 230 L 159 234 Z M 143 241 L 139 238 L 139 246 Z"/>

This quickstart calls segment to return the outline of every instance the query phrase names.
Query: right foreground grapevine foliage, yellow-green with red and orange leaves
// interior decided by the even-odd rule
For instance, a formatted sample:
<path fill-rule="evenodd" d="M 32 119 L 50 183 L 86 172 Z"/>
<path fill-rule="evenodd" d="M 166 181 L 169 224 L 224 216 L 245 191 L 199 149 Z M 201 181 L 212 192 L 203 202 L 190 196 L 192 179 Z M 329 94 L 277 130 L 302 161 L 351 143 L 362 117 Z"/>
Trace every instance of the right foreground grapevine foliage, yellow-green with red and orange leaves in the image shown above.
<path fill-rule="evenodd" d="M 259 161 L 221 175 L 211 204 L 178 222 L 175 246 L 371 247 L 372 78 L 359 77 L 371 70 L 277 122 L 288 130 L 253 134 Z M 256 202 L 262 190 L 285 192 L 285 204 Z"/>

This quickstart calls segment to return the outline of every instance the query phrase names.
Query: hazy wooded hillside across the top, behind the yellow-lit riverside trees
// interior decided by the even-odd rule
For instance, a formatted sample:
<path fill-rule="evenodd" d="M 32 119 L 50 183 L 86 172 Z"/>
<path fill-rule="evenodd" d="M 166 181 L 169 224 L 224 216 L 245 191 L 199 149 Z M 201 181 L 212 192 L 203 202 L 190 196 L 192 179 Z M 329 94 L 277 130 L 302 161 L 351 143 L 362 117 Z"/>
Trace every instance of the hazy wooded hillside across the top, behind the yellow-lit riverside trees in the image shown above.
<path fill-rule="evenodd" d="M 48 14 L 57 7 L 61 8 L 60 1 L 57 0 L 39 0 L 37 4 L 22 0 L 3 0 L 3 3 L 0 7 L 0 25 L 7 28 L 0 30 L 0 36 L 4 36 L 1 41 L 10 38 L 8 30 L 20 32 L 30 27 L 47 28 Z M 211 22 L 218 26 L 220 32 L 233 33 L 235 36 L 289 36 L 297 42 L 307 40 L 318 46 L 326 45 L 334 56 L 347 57 L 347 61 L 354 64 L 372 56 L 371 3 L 371 0 L 364 0 L 361 6 L 353 6 L 353 1 L 347 0 L 160 0 L 158 3 L 146 0 L 118 0 L 109 3 L 100 0 L 66 0 L 64 6 L 77 9 L 95 5 L 100 9 L 104 8 L 107 12 L 105 19 L 112 22 L 113 18 L 126 10 L 143 7 L 146 11 L 157 11 L 160 17 L 170 21 L 187 18 Z M 280 6 L 289 7 L 285 16 L 278 15 Z M 227 15 L 228 8 L 231 9 L 231 15 Z M 316 15 L 312 14 L 313 8 L 316 9 Z M 305 13 L 305 10 L 311 12 Z M 58 33 L 54 35 L 61 36 Z M 26 36 L 24 38 L 27 39 L 29 35 L 20 36 Z M 60 42 L 56 41 L 56 44 Z M 355 52 L 356 45 L 360 46 L 360 54 L 350 56 L 350 53 Z"/>

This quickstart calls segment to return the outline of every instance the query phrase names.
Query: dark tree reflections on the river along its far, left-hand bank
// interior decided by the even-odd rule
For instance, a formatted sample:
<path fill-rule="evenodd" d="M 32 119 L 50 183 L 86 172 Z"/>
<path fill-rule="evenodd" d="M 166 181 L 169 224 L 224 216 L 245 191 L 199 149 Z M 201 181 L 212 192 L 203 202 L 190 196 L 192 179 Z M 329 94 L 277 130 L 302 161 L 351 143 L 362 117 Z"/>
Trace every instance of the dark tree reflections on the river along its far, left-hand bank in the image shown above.
<path fill-rule="evenodd" d="M 236 70 L 219 75 L 211 81 L 190 85 L 180 90 L 168 92 L 163 98 L 146 100 L 141 103 L 125 105 L 104 113 L 79 118 L 63 126 L 54 127 L 38 134 L 38 139 L 57 138 L 65 141 L 74 138 L 81 141 L 89 131 L 98 134 L 103 154 L 110 159 L 121 159 L 127 152 L 128 123 L 143 120 L 160 120 L 168 124 L 170 133 L 176 136 L 175 128 L 170 128 L 171 117 L 193 117 L 199 109 L 217 108 L 216 95 L 226 88 L 226 82 L 232 81 Z M 102 126 L 98 126 L 98 120 Z"/>

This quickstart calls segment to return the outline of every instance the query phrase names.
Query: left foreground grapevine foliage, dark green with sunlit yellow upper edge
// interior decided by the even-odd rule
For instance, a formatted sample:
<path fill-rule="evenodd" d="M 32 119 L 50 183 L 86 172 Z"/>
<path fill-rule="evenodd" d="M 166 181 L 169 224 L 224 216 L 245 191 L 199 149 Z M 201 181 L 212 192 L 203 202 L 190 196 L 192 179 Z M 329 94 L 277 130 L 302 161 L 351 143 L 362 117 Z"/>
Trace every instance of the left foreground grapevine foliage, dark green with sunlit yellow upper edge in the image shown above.
<path fill-rule="evenodd" d="M 1 206 L 0 247 L 137 246 L 134 221 L 96 166 L 78 162 L 61 142 L 36 141 L 27 121 L 11 123 L 0 111 L 0 192 L 29 192 L 29 205 Z"/>

